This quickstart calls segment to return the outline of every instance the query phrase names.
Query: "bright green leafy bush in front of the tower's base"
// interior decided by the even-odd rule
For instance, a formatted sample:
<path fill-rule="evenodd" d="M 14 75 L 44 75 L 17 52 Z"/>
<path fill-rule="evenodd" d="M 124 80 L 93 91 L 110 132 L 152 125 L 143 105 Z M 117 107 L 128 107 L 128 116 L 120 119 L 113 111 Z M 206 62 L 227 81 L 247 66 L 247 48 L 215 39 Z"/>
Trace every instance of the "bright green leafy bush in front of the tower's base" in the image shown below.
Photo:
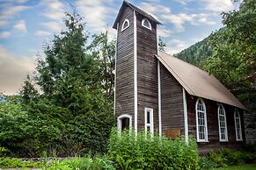
<path fill-rule="evenodd" d="M 186 145 L 182 138 L 170 140 L 144 132 L 135 137 L 135 131 L 115 129 L 108 153 L 117 169 L 197 169 L 199 160 L 193 138 Z"/>

